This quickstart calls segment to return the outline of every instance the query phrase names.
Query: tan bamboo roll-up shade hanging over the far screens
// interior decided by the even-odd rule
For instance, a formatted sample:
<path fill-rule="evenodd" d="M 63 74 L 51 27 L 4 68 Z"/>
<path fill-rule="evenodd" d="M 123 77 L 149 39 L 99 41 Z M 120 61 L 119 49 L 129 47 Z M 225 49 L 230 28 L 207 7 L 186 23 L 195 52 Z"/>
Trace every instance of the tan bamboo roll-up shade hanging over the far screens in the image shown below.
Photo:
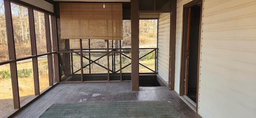
<path fill-rule="evenodd" d="M 122 4 L 60 3 L 61 39 L 123 39 Z"/>

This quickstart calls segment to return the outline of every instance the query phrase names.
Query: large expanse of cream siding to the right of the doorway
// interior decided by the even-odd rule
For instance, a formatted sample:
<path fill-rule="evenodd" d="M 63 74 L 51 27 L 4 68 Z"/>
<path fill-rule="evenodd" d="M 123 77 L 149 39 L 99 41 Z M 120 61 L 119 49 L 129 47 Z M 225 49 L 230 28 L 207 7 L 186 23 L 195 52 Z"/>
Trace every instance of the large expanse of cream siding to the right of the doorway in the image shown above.
<path fill-rule="evenodd" d="M 255 118 L 255 0 L 204 0 L 200 59 L 198 113 Z"/>

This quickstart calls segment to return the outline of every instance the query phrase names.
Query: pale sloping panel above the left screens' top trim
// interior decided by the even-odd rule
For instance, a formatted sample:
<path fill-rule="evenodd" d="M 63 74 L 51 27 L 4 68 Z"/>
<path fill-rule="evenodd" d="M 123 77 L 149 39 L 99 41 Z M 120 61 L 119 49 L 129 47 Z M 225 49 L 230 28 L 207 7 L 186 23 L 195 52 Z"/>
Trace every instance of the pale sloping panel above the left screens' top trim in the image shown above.
<path fill-rule="evenodd" d="M 20 1 L 26 2 L 28 4 L 37 6 L 39 8 L 42 8 L 44 10 L 54 13 L 53 5 L 44 0 L 20 0 Z"/>

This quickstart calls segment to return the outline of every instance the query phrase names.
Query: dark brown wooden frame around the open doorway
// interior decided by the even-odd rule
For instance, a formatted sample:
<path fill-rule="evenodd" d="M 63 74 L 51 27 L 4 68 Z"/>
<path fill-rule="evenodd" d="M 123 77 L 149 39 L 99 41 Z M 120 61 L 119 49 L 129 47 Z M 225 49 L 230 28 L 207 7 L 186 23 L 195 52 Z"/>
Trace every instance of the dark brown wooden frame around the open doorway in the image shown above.
<path fill-rule="evenodd" d="M 183 6 L 183 18 L 182 18 L 182 51 L 181 51 L 181 65 L 180 65 L 180 96 L 186 95 L 185 85 L 186 85 L 186 47 L 188 38 L 188 10 L 192 6 L 199 4 L 201 6 L 200 10 L 200 23 L 199 23 L 199 41 L 198 41 L 198 65 L 197 65 L 197 89 L 196 89 L 196 112 L 198 111 L 198 92 L 199 92 L 199 74 L 200 74 L 200 47 L 201 47 L 201 28 L 202 28 L 202 0 L 193 0 Z"/>

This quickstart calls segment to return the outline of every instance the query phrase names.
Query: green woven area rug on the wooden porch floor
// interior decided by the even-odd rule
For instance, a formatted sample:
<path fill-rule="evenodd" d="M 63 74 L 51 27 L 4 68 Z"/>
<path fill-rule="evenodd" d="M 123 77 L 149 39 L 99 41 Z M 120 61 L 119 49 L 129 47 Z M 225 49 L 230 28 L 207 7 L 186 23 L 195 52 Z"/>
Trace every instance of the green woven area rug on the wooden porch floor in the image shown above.
<path fill-rule="evenodd" d="M 168 102 L 52 104 L 40 118 L 180 118 Z"/>

